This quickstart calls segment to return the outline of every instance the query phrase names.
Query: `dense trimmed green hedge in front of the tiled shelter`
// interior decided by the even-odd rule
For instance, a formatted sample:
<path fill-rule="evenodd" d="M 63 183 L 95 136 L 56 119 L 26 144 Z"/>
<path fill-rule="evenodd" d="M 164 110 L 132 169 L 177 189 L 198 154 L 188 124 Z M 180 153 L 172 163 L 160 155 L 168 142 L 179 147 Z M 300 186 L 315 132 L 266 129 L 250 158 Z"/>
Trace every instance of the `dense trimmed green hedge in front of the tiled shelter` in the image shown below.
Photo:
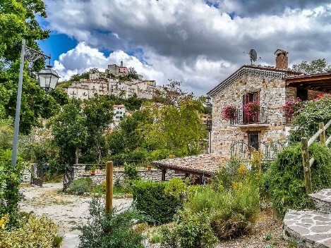
<path fill-rule="evenodd" d="M 134 206 L 151 218 L 150 222 L 164 224 L 172 221 L 183 201 L 165 192 L 167 182 L 143 182 L 133 184 Z"/>

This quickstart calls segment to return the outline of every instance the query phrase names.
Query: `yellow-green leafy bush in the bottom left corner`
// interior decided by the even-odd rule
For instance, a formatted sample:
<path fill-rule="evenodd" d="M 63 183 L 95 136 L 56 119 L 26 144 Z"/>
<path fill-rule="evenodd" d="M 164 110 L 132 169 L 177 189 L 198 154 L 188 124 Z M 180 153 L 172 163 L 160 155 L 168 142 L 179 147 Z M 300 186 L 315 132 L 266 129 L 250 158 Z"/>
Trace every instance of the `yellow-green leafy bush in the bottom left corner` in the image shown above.
<path fill-rule="evenodd" d="M 1 248 L 54 247 L 59 245 L 57 228 L 48 217 L 37 218 L 32 214 L 20 214 L 19 228 L 1 230 Z M 55 242 L 55 243 L 54 243 Z M 59 246 L 58 246 L 59 247 Z"/>

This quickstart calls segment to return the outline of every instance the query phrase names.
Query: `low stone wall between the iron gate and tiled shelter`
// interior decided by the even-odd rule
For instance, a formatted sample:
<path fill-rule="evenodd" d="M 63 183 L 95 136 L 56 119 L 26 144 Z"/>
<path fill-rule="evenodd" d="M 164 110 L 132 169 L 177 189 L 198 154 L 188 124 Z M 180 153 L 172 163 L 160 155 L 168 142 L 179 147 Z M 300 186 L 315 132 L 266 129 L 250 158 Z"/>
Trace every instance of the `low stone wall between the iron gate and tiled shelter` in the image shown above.
<path fill-rule="evenodd" d="M 138 175 L 142 180 L 152 181 L 152 182 L 161 182 L 162 181 L 162 170 L 152 169 L 148 170 L 139 170 Z M 165 180 L 169 181 L 171 178 L 185 178 L 185 175 L 180 173 L 176 174 L 175 171 L 168 170 L 166 173 Z M 91 178 L 95 184 L 101 184 L 106 180 L 106 175 L 104 173 L 96 173 L 95 175 L 90 175 L 85 172 L 85 165 L 74 165 L 73 166 L 73 179 L 77 178 Z M 123 181 L 125 178 L 124 171 L 113 171 L 113 183 L 116 181 Z"/>

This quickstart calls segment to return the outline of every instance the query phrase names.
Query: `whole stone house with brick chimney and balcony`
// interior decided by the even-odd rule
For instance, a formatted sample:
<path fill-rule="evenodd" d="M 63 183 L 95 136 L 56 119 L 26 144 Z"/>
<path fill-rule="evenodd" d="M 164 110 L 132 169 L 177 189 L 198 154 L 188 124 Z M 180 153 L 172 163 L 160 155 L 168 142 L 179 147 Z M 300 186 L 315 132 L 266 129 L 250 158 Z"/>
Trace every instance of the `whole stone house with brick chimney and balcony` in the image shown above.
<path fill-rule="evenodd" d="M 311 100 L 320 93 L 303 84 L 287 84 L 287 79 L 302 77 L 289 70 L 287 54 L 282 49 L 275 51 L 275 67 L 241 66 L 207 93 L 213 104 L 212 153 L 229 158 L 231 154 L 243 152 L 245 146 L 263 150 L 272 143 L 286 140 L 289 126 L 282 106 L 289 99 Z M 259 104 L 259 111 L 247 117 L 243 106 L 254 101 Z M 236 112 L 233 119 L 225 120 L 222 111 L 230 104 L 236 106 Z"/>

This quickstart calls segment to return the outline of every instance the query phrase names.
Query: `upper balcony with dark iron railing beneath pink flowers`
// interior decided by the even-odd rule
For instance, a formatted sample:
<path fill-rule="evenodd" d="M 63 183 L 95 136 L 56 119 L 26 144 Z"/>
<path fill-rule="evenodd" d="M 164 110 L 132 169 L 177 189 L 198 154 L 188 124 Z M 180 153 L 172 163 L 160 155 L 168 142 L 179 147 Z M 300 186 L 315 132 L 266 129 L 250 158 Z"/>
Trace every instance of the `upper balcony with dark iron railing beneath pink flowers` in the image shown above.
<path fill-rule="evenodd" d="M 269 125 L 268 111 L 266 107 L 260 107 L 260 111 L 255 116 L 248 117 L 243 114 L 242 109 L 237 109 L 234 114 L 234 119 L 230 120 L 230 125 L 250 125 L 250 126 L 261 126 Z"/>

